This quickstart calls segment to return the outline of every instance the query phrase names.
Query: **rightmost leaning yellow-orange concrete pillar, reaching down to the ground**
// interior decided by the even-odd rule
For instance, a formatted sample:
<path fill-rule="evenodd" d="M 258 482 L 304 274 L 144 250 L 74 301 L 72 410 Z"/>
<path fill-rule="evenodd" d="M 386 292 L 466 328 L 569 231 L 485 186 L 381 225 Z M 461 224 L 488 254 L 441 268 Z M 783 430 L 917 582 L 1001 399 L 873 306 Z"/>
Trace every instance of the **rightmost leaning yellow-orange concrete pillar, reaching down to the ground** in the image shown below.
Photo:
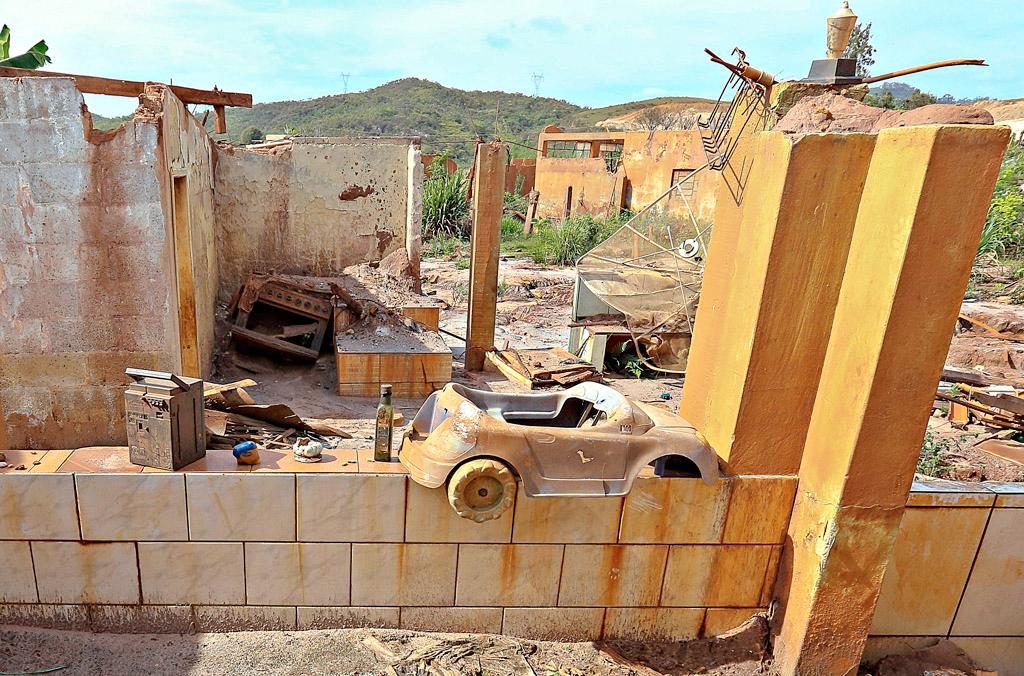
<path fill-rule="evenodd" d="M 856 672 L 1008 134 L 878 134 L 776 583 L 783 674 Z"/>

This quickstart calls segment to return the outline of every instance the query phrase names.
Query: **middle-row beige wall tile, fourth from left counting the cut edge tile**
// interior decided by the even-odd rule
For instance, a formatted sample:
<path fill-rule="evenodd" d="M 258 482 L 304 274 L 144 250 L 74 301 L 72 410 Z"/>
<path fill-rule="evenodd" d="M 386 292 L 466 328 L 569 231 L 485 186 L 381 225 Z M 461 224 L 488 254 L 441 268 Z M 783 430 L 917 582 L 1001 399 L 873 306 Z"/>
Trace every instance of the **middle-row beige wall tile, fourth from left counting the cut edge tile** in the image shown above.
<path fill-rule="evenodd" d="M 348 544 L 246 543 L 251 605 L 347 605 Z"/>

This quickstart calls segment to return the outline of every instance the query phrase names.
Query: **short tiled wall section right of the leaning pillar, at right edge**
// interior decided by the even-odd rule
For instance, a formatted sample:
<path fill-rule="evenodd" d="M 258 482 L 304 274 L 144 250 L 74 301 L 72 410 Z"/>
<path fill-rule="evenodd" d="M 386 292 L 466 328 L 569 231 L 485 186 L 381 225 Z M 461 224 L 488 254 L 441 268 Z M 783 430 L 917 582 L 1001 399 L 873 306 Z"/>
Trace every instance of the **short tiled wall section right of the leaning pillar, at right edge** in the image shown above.
<path fill-rule="evenodd" d="M 940 637 L 1024 674 L 1024 483 L 914 483 L 864 658 Z"/>

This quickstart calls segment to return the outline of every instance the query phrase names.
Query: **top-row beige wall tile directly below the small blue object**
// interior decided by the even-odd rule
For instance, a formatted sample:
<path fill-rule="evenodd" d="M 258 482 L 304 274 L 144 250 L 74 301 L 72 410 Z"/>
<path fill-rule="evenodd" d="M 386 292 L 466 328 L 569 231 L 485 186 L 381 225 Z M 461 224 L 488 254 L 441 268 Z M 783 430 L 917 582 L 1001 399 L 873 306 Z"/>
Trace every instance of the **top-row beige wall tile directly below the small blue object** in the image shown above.
<path fill-rule="evenodd" d="M 295 540 L 292 474 L 186 474 L 191 540 Z"/>

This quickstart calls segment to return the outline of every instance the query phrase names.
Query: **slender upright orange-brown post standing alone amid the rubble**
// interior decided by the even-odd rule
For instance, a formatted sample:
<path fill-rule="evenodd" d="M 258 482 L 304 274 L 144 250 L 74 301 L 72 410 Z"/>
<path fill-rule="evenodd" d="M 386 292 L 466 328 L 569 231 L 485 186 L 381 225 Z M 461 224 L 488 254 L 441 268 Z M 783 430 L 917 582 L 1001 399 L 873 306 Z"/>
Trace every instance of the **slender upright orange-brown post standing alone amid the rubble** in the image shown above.
<path fill-rule="evenodd" d="M 466 327 L 467 371 L 482 371 L 484 353 L 495 346 L 507 157 L 508 146 L 504 143 L 476 145 L 473 235 L 469 259 L 469 321 Z"/>

